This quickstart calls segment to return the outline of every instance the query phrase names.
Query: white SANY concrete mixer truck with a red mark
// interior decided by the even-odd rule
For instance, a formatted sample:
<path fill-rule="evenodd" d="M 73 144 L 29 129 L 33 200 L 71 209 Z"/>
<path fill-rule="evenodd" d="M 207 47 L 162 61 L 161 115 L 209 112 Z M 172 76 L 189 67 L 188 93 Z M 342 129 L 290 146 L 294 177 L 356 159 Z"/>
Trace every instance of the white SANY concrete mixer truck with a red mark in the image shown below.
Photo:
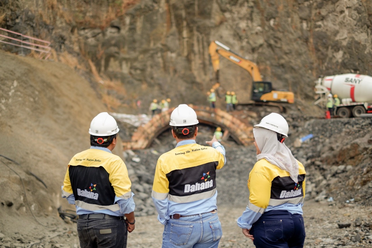
<path fill-rule="evenodd" d="M 372 113 L 372 77 L 360 74 L 340 74 L 319 78 L 315 93 L 320 94 L 315 104 L 324 104 L 327 95 L 337 95 L 341 104 L 335 106 L 334 115 L 349 118 Z"/>

